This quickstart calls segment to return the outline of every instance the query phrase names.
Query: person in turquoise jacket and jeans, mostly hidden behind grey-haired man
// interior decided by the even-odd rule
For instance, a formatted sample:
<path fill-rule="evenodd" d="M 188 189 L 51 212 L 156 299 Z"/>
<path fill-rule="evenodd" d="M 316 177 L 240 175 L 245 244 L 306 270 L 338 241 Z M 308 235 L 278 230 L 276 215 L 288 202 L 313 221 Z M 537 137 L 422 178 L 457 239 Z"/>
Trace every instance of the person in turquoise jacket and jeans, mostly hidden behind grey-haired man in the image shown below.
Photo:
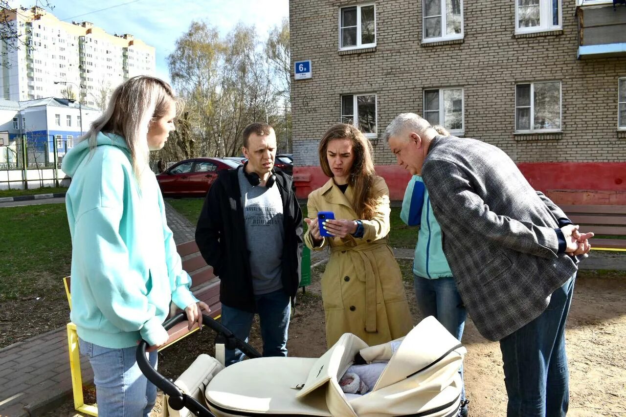
<path fill-rule="evenodd" d="M 450 133 L 443 126 L 433 126 L 440 135 Z M 441 227 L 433 215 L 426 185 L 413 175 L 404 192 L 400 217 L 409 226 L 419 226 L 418 244 L 413 260 L 413 285 L 419 310 L 434 316 L 459 341 L 463 336 L 467 312 L 456 289 L 452 271 L 443 253 Z M 459 369 L 463 379 L 463 366 Z M 460 415 L 468 415 L 465 386 L 461 390 Z"/>

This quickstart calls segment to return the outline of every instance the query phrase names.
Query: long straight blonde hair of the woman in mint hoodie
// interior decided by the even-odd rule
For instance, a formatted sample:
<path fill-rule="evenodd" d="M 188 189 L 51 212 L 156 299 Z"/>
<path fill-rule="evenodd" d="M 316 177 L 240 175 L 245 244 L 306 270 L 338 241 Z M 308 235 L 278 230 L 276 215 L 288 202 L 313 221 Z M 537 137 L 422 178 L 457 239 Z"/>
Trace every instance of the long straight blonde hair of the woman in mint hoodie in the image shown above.
<path fill-rule="evenodd" d="M 90 130 L 79 142 L 88 140 L 93 150 L 98 146 L 96 136 L 99 132 L 122 136 L 131 155 L 135 177 L 141 182 L 141 173 L 150 160 L 148 128 L 151 121 L 166 115 L 172 104 L 179 115 L 182 101 L 165 81 L 148 75 L 130 78 L 113 91 L 106 110 L 91 123 Z"/>

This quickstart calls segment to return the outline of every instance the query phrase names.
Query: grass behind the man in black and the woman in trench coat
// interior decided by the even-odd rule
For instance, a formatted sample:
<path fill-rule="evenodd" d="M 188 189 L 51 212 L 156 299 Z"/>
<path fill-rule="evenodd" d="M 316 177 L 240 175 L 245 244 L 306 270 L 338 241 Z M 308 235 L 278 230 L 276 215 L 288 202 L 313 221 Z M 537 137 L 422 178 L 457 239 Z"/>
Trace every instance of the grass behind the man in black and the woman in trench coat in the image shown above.
<path fill-rule="evenodd" d="M 191 224 L 197 224 L 204 198 L 166 198 L 165 200 L 170 203 L 177 212 L 185 216 Z M 300 207 L 302 208 L 302 214 L 306 217 L 307 206 L 302 205 Z M 415 247 L 418 240 L 418 228 L 409 227 L 400 220 L 399 207 L 391 208 L 390 221 L 391 234 L 389 234 L 389 245 L 391 245 L 391 247 Z"/>

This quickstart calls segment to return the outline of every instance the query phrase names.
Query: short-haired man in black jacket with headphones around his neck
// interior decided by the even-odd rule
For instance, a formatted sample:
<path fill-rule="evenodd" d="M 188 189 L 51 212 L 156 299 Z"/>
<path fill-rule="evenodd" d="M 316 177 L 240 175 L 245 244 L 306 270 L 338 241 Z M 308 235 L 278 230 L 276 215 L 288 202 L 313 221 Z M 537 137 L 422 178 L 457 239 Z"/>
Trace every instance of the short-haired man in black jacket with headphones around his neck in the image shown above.
<path fill-rule="evenodd" d="M 287 356 L 290 304 L 300 284 L 302 211 L 293 179 L 275 172 L 272 126 L 244 129 L 243 167 L 222 170 L 208 191 L 195 240 L 220 277 L 222 324 L 247 341 L 259 314 L 263 356 Z M 242 360 L 227 349 L 226 365 Z"/>

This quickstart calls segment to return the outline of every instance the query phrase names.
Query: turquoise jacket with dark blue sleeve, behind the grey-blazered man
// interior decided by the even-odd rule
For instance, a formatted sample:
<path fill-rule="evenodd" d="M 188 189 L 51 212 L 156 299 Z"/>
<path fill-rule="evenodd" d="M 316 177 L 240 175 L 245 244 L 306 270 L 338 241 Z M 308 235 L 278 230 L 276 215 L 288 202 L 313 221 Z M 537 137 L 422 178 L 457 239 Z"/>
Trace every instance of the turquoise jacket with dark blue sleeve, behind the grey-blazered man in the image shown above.
<path fill-rule="evenodd" d="M 409 226 L 419 225 L 413 273 L 428 279 L 451 277 L 452 271 L 443 253 L 441 227 L 434 217 L 428 190 L 419 175 L 413 175 L 406 186 L 400 218 Z"/>

